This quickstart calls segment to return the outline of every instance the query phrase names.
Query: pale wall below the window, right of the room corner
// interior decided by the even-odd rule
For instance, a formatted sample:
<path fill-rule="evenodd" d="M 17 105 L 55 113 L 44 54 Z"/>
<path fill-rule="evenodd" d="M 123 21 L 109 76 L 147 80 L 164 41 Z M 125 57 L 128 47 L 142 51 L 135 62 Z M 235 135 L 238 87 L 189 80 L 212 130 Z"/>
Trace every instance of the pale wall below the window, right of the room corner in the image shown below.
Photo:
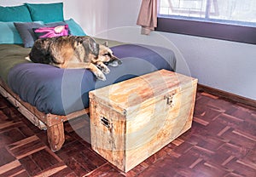
<path fill-rule="evenodd" d="M 177 54 L 178 72 L 188 75 L 190 71 L 192 77 L 199 79 L 199 83 L 256 100 L 256 45 L 167 32 L 153 32 L 148 37 L 141 37 L 143 35 L 135 29 L 142 0 L 108 2 L 108 29 L 117 31 L 109 37 L 151 44 L 155 41 L 159 43 L 160 38 L 163 41 L 160 45 L 172 46 L 183 55 L 180 57 Z M 121 30 L 122 26 L 132 27 Z"/>

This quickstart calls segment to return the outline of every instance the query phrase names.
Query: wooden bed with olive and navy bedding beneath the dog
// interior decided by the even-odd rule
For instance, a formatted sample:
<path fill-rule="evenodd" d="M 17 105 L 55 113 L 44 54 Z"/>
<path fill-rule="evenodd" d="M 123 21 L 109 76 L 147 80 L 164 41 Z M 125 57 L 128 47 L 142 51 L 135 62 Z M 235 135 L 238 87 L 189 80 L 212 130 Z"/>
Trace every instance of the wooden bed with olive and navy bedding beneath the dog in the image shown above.
<path fill-rule="evenodd" d="M 95 39 L 98 43 L 106 41 Z M 106 81 L 97 80 L 89 70 L 25 60 L 31 48 L 25 48 L 24 43 L 0 44 L 0 93 L 35 126 L 47 130 L 52 151 L 60 150 L 65 141 L 63 123 L 89 113 L 90 90 L 160 69 L 175 71 L 176 58 L 170 49 L 107 41 L 123 64 L 108 66 Z"/>

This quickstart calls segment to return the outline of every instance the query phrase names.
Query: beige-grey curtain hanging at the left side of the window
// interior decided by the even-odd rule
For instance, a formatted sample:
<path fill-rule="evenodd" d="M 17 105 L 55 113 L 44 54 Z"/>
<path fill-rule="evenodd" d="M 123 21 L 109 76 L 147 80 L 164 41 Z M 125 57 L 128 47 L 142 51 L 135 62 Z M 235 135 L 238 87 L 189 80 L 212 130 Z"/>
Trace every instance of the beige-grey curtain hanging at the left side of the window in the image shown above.
<path fill-rule="evenodd" d="M 142 34 L 148 35 L 157 26 L 157 0 L 143 0 L 137 18 L 137 25 L 142 26 Z"/>

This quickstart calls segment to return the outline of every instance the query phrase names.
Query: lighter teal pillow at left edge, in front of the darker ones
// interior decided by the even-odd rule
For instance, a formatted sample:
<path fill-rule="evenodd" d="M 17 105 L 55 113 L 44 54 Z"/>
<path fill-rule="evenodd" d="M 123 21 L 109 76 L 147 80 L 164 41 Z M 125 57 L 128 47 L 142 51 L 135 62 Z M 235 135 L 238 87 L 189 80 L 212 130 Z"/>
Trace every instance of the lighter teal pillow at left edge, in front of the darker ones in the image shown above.
<path fill-rule="evenodd" d="M 19 32 L 15 28 L 14 22 L 0 21 L 0 31 L 0 43 L 22 43 Z"/>

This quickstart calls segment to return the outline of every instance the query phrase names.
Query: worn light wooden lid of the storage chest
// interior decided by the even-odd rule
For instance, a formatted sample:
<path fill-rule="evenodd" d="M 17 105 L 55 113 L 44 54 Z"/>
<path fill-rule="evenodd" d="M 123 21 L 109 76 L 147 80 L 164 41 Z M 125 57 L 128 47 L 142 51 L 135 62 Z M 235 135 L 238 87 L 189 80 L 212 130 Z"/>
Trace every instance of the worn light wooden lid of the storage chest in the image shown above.
<path fill-rule="evenodd" d="M 195 78 L 160 70 L 90 91 L 89 97 L 99 104 L 125 112 L 131 106 L 137 106 L 163 94 L 176 94 L 196 83 Z"/>

